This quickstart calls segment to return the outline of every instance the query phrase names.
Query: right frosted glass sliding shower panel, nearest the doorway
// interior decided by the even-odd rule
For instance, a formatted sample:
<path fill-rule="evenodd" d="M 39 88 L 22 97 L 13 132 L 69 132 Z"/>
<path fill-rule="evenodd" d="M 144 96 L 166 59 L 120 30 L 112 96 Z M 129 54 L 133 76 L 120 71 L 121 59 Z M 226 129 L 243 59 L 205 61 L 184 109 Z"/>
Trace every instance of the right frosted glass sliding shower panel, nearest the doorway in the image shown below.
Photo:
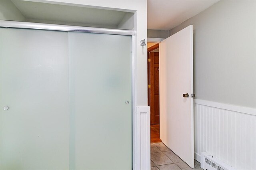
<path fill-rule="evenodd" d="M 70 169 L 132 169 L 132 37 L 69 32 Z"/>

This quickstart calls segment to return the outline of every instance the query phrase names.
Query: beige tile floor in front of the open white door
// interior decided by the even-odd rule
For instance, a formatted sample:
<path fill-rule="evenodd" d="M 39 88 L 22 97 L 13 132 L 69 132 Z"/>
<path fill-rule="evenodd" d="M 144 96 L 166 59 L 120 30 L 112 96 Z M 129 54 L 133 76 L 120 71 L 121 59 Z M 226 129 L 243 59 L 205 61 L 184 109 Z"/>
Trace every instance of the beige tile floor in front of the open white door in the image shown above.
<path fill-rule="evenodd" d="M 203 170 L 196 160 L 194 168 L 190 168 L 162 142 L 150 144 L 150 153 L 151 170 Z"/>

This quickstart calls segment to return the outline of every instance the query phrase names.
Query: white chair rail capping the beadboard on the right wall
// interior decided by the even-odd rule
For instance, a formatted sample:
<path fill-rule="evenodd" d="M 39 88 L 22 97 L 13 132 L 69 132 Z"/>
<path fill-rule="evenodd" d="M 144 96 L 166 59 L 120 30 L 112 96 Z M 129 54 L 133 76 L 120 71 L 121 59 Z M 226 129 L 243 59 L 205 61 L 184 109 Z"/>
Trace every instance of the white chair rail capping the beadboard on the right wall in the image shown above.
<path fill-rule="evenodd" d="M 194 103 L 196 103 L 198 105 L 216 107 L 216 108 L 220 108 L 220 109 L 225 109 L 225 110 L 229 110 L 229 111 L 235 111 L 235 112 L 239 112 L 239 113 L 245 113 L 245 114 L 256 116 L 256 109 L 250 108 L 250 107 L 228 105 L 225 103 L 218 103 L 218 102 L 214 102 L 214 101 L 206 101 L 206 100 L 201 100 L 201 99 L 194 99 Z"/>

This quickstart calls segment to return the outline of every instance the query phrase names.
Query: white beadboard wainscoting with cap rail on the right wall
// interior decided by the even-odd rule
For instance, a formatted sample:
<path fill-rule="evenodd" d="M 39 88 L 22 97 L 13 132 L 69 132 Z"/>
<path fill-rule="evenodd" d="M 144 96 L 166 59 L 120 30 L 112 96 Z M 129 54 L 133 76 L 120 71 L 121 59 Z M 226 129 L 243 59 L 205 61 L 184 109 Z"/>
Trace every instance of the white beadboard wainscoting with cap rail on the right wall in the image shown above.
<path fill-rule="evenodd" d="M 194 154 L 201 152 L 237 170 L 256 170 L 256 109 L 194 100 Z"/>

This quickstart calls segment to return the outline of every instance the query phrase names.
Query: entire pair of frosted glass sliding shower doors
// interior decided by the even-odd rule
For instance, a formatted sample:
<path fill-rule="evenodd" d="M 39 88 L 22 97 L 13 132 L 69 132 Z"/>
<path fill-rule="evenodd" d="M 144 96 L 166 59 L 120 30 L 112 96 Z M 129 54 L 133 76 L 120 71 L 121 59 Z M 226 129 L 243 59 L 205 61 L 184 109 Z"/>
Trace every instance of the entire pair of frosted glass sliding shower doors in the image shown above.
<path fill-rule="evenodd" d="M 132 37 L 0 28 L 0 170 L 132 169 Z"/>

